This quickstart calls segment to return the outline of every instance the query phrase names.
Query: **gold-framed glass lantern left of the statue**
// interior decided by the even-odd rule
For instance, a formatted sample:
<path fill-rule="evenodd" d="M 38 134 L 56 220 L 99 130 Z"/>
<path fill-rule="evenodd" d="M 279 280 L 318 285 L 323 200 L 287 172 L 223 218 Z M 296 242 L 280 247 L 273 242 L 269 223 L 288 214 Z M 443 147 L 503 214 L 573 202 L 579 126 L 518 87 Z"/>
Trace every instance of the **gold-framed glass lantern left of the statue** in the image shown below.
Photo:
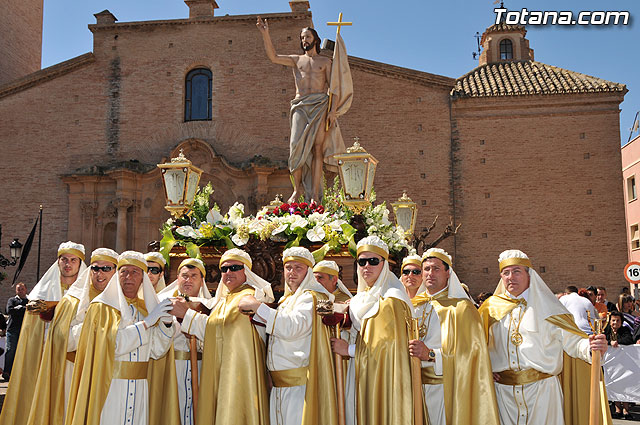
<path fill-rule="evenodd" d="M 165 209 L 175 218 L 180 218 L 186 213 L 198 190 L 202 170 L 194 166 L 180 149 L 180 155 L 171 158 L 171 162 L 158 164 L 162 171 L 164 194 L 167 198 Z"/>

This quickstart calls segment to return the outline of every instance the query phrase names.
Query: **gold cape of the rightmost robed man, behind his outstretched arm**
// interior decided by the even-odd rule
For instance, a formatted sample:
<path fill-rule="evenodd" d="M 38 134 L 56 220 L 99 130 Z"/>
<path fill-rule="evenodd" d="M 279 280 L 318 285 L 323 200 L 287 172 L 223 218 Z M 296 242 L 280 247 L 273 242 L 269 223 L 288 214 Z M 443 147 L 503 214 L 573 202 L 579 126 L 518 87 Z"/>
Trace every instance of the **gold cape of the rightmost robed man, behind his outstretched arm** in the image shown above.
<path fill-rule="evenodd" d="M 518 304 L 505 295 L 493 295 L 485 300 L 478 312 L 482 318 L 485 337 L 489 336 L 491 326 L 498 323 Z M 545 320 L 553 325 L 571 332 L 583 338 L 587 334 L 582 332 L 575 324 L 571 314 L 559 314 L 549 316 Z M 565 425 L 584 425 L 589 423 L 589 399 L 591 388 L 591 365 L 584 360 L 576 359 L 563 353 L 562 372 L 560 373 L 560 385 L 564 401 Z M 600 374 L 600 423 L 610 425 L 612 423 L 611 411 L 607 400 L 607 392 L 604 386 L 604 377 Z"/>

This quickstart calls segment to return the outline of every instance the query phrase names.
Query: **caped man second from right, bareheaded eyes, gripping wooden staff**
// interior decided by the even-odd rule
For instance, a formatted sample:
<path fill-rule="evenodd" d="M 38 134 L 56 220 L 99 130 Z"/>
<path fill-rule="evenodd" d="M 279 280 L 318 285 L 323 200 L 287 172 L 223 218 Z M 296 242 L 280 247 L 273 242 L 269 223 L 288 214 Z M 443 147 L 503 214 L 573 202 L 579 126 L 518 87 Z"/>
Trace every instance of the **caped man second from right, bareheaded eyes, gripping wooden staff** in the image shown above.
<path fill-rule="evenodd" d="M 420 263 L 417 260 L 415 256 L 405 258 L 402 272 L 405 278 L 407 270 L 416 270 L 421 264 L 420 286 L 416 288 L 412 279 L 407 288 L 419 331 L 419 338 L 409 341 L 409 353 L 421 360 L 429 422 L 497 425 L 498 409 L 482 321 L 453 270 L 451 256 L 440 248 L 431 248 Z"/>

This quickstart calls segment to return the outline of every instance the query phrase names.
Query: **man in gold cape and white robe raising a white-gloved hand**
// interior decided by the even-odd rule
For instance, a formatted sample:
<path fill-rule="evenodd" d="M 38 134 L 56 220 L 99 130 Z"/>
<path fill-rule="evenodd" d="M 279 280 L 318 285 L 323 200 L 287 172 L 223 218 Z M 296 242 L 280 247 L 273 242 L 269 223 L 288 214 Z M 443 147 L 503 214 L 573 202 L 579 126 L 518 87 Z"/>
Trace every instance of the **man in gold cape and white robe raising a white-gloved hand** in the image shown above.
<path fill-rule="evenodd" d="M 169 310 L 169 300 L 158 302 L 144 256 L 120 254 L 82 325 L 65 424 L 148 423 L 148 362 L 167 352 L 177 331 Z"/>

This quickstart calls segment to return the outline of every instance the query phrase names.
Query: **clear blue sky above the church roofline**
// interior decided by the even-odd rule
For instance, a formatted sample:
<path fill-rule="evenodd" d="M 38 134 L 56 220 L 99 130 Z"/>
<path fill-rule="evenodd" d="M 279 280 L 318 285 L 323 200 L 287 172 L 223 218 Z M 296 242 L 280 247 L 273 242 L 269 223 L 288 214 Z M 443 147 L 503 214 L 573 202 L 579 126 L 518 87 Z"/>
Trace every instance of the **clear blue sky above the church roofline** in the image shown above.
<path fill-rule="evenodd" d="M 220 15 L 290 11 L 288 0 L 217 0 Z M 474 67 L 474 34 L 495 20 L 493 0 L 310 0 L 313 21 L 322 38 L 343 29 L 350 55 L 457 78 Z M 527 38 L 535 60 L 627 85 L 621 105 L 620 138 L 624 144 L 640 110 L 640 2 L 638 0 L 505 0 L 509 10 L 620 11 L 631 14 L 623 26 L 529 26 Z M 92 49 L 87 25 L 94 13 L 108 9 L 119 22 L 182 19 L 183 0 L 44 0 L 42 66 L 47 67 Z M 256 30 L 256 38 L 258 38 Z M 287 53 L 287 52 L 281 52 Z"/>

